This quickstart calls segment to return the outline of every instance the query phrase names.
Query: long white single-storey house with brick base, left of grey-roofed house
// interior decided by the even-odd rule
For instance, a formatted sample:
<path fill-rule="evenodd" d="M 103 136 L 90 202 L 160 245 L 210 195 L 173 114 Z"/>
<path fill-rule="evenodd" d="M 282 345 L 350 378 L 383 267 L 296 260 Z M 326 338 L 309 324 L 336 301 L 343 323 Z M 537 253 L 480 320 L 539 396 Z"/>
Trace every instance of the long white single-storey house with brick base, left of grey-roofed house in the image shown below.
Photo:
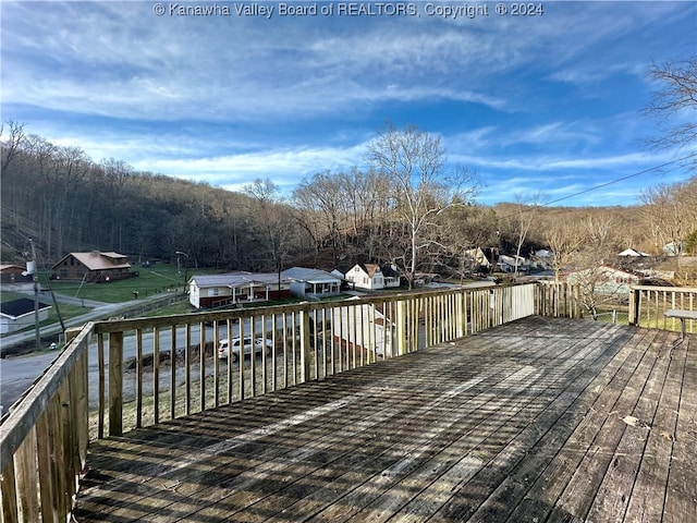
<path fill-rule="evenodd" d="M 196 308 L 239 306 L 290 295 L 291 280 L 279 272 L 235 271 L 188 280 L 188 301 Z"/>

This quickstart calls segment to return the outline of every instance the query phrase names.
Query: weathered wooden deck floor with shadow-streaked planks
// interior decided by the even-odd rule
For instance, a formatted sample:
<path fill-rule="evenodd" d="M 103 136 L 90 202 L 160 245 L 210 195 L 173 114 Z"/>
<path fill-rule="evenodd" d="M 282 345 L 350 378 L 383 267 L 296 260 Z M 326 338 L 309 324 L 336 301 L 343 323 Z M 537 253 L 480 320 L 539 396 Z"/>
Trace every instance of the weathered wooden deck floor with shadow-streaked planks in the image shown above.
<path fill-rule="evenodd" d="M 78 522 L 697 521 L 697 337 L 533 317 L 94 443 Z"/>

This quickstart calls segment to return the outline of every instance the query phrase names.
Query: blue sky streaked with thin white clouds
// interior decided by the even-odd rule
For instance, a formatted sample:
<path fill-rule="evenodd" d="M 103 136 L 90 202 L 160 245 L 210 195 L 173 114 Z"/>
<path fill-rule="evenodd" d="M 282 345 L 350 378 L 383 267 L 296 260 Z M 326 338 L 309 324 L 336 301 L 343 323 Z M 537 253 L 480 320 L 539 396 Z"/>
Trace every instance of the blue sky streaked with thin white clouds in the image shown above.
<path fill-rule="evenodd" d="M 463 2 L 413 2 L 403 16 L 281 16 L 279 2 L 256 2 L 270 19 L 236 14 L 254 2 L 163 1 L 159 16 L 157 3 L 2 1 L 2 120 L 95 161 L 232 191 L 268 178 L 286 192 L 367 168 L 386 121 L 416 124 L 476 170 L 487 205 L 566 198 L 695 153 L 649 150 L 655 122 L 641 114 L 651 63 L 696 53 L 694 1 L 546 1 L 535 16 L 467 2 L 488 8 L 476 17 L 431 14 Z M 671 166 L 560 205 L 632 205 L 689 175 Z"/>

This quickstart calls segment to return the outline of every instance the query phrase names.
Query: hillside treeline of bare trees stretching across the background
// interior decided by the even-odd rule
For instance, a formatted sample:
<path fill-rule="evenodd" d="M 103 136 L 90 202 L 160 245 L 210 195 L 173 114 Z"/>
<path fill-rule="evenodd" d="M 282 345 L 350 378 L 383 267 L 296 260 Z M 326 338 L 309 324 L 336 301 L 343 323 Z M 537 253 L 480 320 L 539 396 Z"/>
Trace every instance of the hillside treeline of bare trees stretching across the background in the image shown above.
<path fill-rule="evenodd" d="M 627 247 L 659 254 L 671 242 L 697 244 L 697 177 L 649 186 L 629 207 L 548 208 L 539 195 L 514 194 L 481 206 L 475 173 L 443 172 L 438 138 L 414 127 L 378 136 L 372 169 L 318 171 L 290 195 L 268 180 L 235 193 L 117 159 L 95 161 L 14 122 L 1 138 L 2 263 L 20 263 L 29 238 L 47 265 L 73 251 L 117 251 L 136 263 L 172 260 L 179 251 L 192 267 L 380 262 L 412 276 L 465 273 L 467 251 L 478 246 L 523 256 L 548 248 L 561 265 L 579 264 L 582 255 L 607 262 Z M 402 150 L 432 157 L 406 158 L 414 161 L 407 178 L 389 169 Z"/>

